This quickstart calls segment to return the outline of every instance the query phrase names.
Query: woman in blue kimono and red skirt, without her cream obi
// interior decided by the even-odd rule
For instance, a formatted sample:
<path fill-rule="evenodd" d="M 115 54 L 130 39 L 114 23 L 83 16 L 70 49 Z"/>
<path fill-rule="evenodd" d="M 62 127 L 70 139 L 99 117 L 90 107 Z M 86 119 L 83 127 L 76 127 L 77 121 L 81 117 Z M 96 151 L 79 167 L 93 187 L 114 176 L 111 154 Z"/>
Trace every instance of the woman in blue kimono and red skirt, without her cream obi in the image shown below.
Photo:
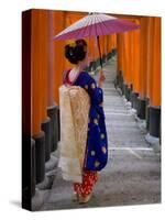
<path fill-rule="evenodd" d="M 67 44 L 65 56 L 72 64 L 75 64 L 75 67 L 65 72 L 63 82 L 80 86 L 90 97 L 82 183 L 74 183 L 75 200 L 84 204 L 89 201 L 94 186 L 98 180 L 98 172 L 106 166 L 108 161 L 108 138 L 103 112 L 103 91 L 101 89 L 105 76 L 99 76 L 97 85 L 96 80 L 84 70 L 88 62 L 88 48 L 85 40 Z"/>

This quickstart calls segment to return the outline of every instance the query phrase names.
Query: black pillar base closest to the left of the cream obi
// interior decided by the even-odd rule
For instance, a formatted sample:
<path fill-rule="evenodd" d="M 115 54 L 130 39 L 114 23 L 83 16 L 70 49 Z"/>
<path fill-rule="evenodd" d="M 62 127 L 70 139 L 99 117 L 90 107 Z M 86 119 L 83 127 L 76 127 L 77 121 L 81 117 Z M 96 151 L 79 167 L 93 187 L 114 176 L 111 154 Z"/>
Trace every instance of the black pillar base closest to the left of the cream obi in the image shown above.
<path fill-rule="evenodd" d="M 59 128 L 59 107 L 52 106 L 47 108 L 47 116 L 51 118 L 51 152 L 57 148 L 57 142 L 59 141 L 61 128 Z"/>

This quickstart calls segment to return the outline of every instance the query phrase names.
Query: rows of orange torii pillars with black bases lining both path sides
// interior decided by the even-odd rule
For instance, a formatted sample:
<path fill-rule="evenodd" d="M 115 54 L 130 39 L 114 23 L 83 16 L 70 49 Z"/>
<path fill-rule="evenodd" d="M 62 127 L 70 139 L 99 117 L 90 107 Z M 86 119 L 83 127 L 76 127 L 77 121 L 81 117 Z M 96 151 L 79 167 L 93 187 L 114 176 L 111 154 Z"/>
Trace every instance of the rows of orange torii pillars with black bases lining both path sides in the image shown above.
<path fill-rule="evenodd" d="M 53 164 L 52 153 L 61 138 L 58 87 L 64 69 L 72 67 L 64 57 L 67 42 L 53 36 L 86 14 L 36 9 L 22 13 L 22 199 L 28 209 L 32 209 L 36 186 L 42 188 L 47 177 L 47 164 Z M 146 120 L 148 134 L 160 140 L 161 18 L 111 15 L 135 22 L 141 29 L 100 36 L 102 61 L 117 54 L 114 86 L 121 88 L 138 117 Z M 99 53 L 94 37 L 87 43 L 90 72 L 99 66 Z"/>

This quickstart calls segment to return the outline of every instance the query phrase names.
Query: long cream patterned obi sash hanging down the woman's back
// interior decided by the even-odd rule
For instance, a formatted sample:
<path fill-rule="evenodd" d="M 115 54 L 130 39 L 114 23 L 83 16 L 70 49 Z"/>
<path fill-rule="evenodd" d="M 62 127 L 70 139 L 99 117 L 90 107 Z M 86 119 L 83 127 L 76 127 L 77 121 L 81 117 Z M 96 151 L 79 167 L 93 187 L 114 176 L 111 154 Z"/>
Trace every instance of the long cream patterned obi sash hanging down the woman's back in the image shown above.
<path fill-rule="evenodd" d="M 90 98 L 79 86 L 59 87 L 61 154 L 59 164 L 65 180 L 82 182 Z"/>

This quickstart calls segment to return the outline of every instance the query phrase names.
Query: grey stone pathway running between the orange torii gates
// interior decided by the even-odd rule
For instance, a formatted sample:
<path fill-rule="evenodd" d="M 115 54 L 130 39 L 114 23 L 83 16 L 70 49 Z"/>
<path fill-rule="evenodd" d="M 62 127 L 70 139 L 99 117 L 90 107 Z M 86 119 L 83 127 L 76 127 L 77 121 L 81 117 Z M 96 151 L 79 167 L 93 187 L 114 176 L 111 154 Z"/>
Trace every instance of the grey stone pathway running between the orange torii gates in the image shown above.
<path fill-rule="evenodd" d="M 73 186 L 62 179 L 58 169 L 40 210 L 161 202 L 161 158 L 146 143 L 144 132 L 113 86 L 116 64 L 113 57 L 103 67 L 107 78 L 103 92 L 109 162 L 100 172 L 91 200 L 86 205 L 72 201 Z"/>

